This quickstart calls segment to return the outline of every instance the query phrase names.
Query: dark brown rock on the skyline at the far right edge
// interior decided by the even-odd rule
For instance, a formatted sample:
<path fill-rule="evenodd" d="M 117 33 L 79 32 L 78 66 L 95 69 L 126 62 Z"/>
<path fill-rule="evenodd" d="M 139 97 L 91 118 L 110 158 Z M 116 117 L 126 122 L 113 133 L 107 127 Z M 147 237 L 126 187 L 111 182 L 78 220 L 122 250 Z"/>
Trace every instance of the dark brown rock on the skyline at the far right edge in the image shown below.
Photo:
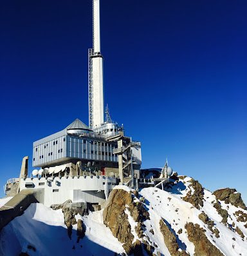
<path fill-rule="evenodd" d="M 216 190 L 213 194 L 218 200 L 224 201 L 226 204 L 230 202 L 232 205 L 246 210 L 247 208 L 242 201 L 241 193 L 236 192 L 235 188 L 222 188 L 221 190 Z"/>

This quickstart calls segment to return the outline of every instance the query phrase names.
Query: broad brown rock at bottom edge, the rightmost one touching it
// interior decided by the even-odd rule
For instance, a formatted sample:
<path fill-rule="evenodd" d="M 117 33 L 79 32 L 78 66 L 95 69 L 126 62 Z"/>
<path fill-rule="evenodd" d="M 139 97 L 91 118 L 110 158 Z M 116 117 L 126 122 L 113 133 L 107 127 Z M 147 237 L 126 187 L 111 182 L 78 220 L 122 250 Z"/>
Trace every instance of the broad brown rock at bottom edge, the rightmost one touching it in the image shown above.
<path fill-rule="evenodd" d="M 224 256 L 221 251 L 214 246 L 206 237 L 205 230 L 198 224 L 188 222 L 185 225 L 188 233 L 188 240 L 194 243 L 194 256 Z"/>

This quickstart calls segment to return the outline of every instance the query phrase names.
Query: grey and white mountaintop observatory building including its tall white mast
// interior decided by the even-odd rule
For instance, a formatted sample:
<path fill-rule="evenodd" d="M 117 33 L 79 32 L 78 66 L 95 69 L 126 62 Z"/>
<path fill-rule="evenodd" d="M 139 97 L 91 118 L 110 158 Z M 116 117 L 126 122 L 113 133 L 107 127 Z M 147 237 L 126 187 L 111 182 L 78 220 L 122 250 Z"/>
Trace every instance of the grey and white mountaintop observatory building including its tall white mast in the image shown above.
<path fill-rule="evenodd" d="M 76 119 L 60 132 L 33 143 L 32 166 L 23 161 L 19 179 L 5 192 L 38 189 L 46 206 L 84 200 L 100 203 L 116 184 L 133 188 L 140 177 L 141 144 L 124 134 L 104 108 L 103 56 L 100 49 L 100 0 L 93 0 L 93 47 L 88 50 L 88 126 Z M 17 188 L 18 186 L 18 188 Z"/>

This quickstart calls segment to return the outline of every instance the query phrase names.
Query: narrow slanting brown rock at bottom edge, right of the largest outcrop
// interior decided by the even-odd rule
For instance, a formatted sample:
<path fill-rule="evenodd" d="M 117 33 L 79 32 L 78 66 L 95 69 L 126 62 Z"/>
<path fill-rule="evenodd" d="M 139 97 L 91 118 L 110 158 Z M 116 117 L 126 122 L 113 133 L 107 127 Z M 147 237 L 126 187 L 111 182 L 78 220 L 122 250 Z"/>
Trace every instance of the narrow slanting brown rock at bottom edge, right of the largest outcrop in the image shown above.
<path fill-rule="evenodd" d="M 167 246 L 171 256 L 189 256 L 186 251 L 179 251 L 177 239 L 170 231 L 164 221 L 160 220 L 160 231 L 163 234 L 165 245 Z"/>

